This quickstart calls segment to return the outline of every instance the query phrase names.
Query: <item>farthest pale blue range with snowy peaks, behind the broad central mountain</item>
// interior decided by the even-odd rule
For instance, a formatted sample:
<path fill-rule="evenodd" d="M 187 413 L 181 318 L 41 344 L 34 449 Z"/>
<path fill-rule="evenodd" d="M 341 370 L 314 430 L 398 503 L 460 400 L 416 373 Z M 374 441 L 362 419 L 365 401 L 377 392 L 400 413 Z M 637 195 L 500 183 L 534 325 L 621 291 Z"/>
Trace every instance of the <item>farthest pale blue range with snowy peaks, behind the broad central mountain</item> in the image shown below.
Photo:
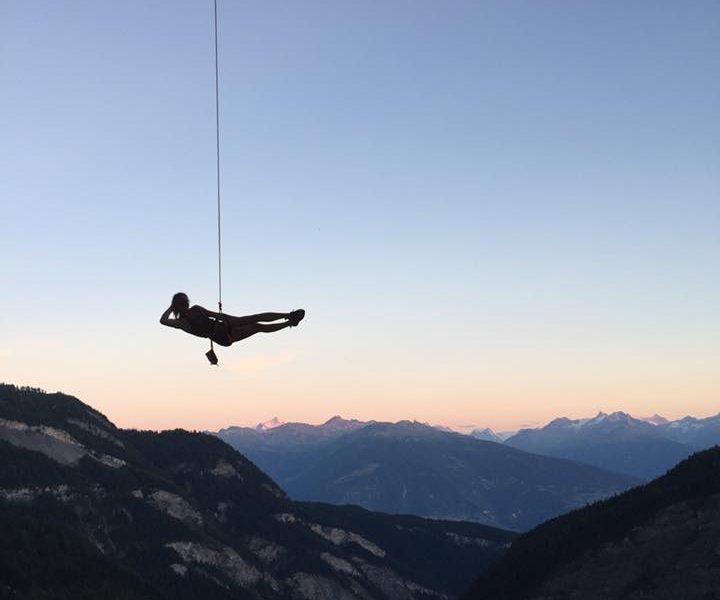
<path fill-rule="evenodd" d="M 294 495 L 299 491 L 295 481 L 315 460 L 320 446 L 374 424 L 375 421 L 345 420 L 339 416 L 321 425 L 283 423 L 274 418 L 255 428 L 221 429 L 217 435 L 250 456 Z M 435 428 L 453 433 L 446 427 Z M 401 429 L 398 428 L 398 432 Z M 649 481 L 693 452 L 720 444 L 720 414 L 704 419 L 685 417 L 668 421 L 659 415 L 640 419 L 624 412 L 600 412 L 585 419 L 562 417 L 543 427 L 511 434 L 476 428 L 470 437 Z M 329 500 L 329 497 L 316 497 Z"/>

